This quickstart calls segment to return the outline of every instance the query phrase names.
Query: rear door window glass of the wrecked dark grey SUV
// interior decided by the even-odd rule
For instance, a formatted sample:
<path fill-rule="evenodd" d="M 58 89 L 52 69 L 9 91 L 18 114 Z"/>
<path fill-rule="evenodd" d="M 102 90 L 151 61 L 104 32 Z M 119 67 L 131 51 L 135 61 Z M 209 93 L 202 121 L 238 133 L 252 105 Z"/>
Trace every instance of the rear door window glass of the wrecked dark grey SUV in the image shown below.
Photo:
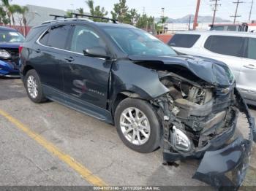
<path fill-rule="evenodd" d="M 50 28 L 39 40 L 41 44 L 48 47 L 56 47 L 59 49 L 67 49 L 66 42 L 69 36 L 70 26 L 56 26 Z"/>

